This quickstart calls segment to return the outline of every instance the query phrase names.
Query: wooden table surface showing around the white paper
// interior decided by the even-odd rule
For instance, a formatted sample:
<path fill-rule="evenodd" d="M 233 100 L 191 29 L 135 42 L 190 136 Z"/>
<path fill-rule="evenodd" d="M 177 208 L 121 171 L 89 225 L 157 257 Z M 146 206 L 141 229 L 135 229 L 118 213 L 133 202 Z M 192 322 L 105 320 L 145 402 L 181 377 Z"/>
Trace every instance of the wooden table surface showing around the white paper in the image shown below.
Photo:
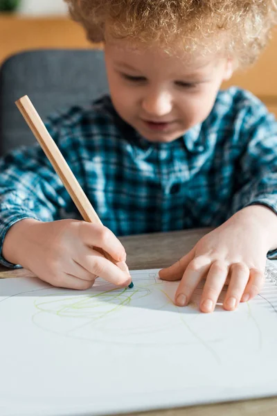
<path fill-rule="evenodd" d="M 120 238 L 127 252 L 131 270 L 161 268 L 177 261 L 210 229 L 193 229 L 163 234 L 147 234 Z M 0 277 L 33 276 L 28 270 L 0 268 Z M 222 374 L 224 376 L 224 374 Z M 240 374 L 238 374 L 238 377 Z M 134 413 L 134 416 L 276 416 L 277 397 L 245 400 L 224 404 Z"/>

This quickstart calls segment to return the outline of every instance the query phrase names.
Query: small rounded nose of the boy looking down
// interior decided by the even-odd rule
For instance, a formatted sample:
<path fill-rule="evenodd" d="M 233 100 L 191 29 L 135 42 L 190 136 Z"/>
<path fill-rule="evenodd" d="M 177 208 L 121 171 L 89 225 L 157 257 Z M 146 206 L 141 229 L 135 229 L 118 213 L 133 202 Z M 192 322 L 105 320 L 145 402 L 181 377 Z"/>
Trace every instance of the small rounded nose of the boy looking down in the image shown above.
<path fill-rule="evenodd" d="M 172 110 L 172 97 L 166 92 L 151 92 L 143 98 L 145 114 L 162 117 Z"/>

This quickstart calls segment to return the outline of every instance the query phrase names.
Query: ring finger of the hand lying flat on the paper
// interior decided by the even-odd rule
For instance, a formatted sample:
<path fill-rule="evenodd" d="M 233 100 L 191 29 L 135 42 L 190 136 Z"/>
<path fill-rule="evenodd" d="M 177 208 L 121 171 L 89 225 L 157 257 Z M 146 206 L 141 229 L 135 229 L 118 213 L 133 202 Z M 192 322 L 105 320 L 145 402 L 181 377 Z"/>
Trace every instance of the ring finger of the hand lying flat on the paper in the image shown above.
<path fill-rule="evenodd" d="M 246 264 L 233 263 L 230 270 L 231 280 L 223 303 L 227 311 L 233 311 L 238 306 L 249 280 L 249 267 Z"/>

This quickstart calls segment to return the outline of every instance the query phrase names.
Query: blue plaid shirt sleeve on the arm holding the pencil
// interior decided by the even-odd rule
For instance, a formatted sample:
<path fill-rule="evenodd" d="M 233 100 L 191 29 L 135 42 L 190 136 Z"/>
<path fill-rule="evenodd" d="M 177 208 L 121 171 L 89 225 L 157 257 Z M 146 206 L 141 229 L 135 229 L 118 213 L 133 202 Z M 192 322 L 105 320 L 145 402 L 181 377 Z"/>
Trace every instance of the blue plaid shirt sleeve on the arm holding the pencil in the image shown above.
<path fill-rule="evenodd" d="M 59 132 L 47 125 L 51 137 L 59 141 Z M 60 146 L 59 146 L 60 147 Z M 64 146 L 64 157 L 69 152 Z M 70 200 L 60 178 L 39 144 L 22 147 L 0 159 L 0 263 L 10 268 L 2 256 L 3 241 L 8 229 L 24 218 L 41 221 L 61 219 L 61 210 Z"/>

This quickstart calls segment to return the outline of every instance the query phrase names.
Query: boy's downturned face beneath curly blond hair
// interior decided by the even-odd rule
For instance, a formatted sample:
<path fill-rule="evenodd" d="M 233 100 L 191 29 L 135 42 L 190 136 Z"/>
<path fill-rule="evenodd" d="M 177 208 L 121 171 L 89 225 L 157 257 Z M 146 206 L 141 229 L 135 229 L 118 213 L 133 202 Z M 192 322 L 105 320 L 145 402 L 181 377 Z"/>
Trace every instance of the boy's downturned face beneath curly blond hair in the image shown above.
<path fill-rule="evenodd" d="M 105 44 L 111 100 L 123 120 L 145 139 L 177 139 L 211 112 L 232 62 L 215 55 L 188 59 L 162 49 L 132 47 L 127 40 Z"/>

